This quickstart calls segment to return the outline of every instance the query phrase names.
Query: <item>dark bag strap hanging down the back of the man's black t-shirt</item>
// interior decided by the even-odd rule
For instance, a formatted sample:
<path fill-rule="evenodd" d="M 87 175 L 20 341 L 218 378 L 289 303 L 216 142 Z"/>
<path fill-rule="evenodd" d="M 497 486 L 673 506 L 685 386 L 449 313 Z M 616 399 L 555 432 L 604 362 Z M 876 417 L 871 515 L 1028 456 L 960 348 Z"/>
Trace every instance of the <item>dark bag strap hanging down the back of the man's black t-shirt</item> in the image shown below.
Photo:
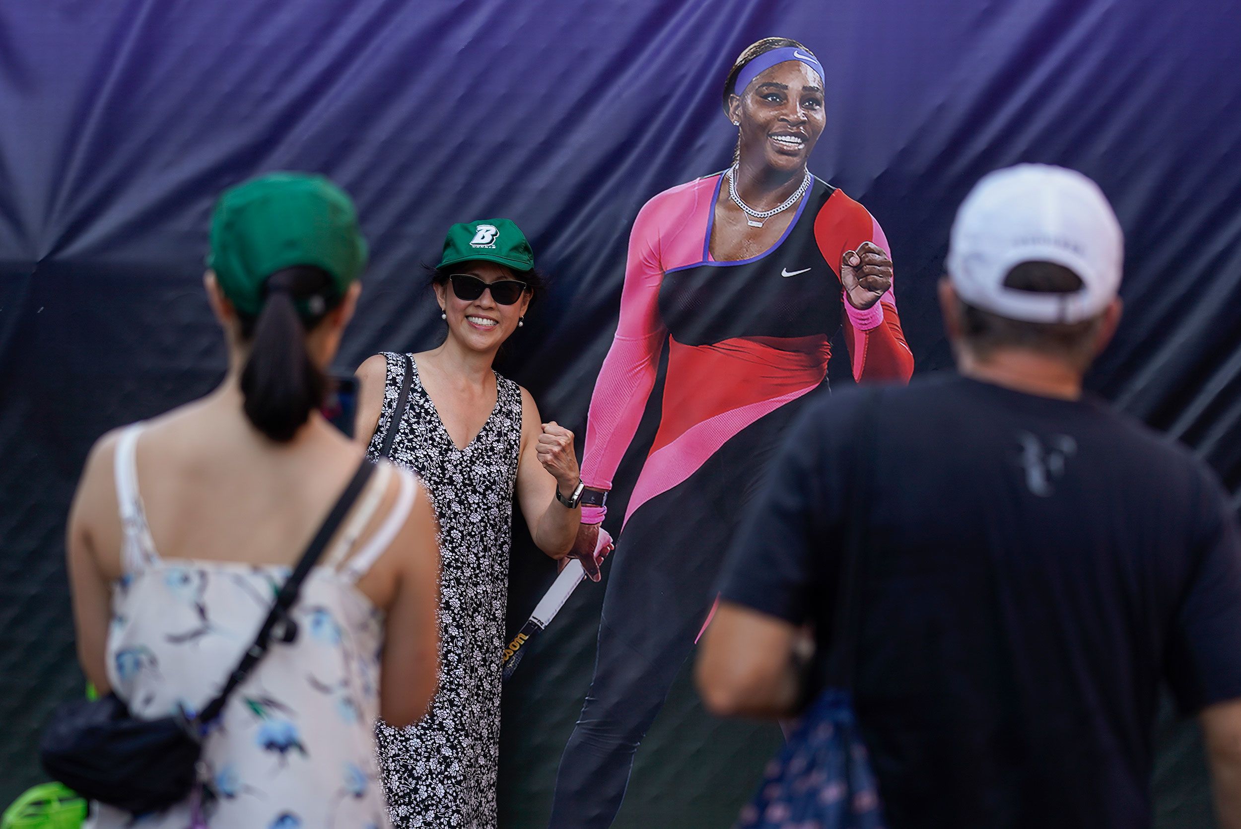
<path fill-rule="evenodd" d="M 875 454 L 877 449 L 877 429 L 875 419 L 880 410 L 880 390 L 867 390 L 867 400 L 861 405 L 861 422 L 853 431 L 854 474 L 846 480 L 845 495 L 845 549 L 840 562 L 840 585 L 836 591 L 836 616 L 831 640 L 834 648 L 829 660 L 829 680 L 834 688 L 853 691 L 854 674 L 858 668 L 858 635 L 861 624 L 861 601 L 858 596 L 861 582 L 864 556 L 867 539 L 867 495 L 872 488 Z"/>

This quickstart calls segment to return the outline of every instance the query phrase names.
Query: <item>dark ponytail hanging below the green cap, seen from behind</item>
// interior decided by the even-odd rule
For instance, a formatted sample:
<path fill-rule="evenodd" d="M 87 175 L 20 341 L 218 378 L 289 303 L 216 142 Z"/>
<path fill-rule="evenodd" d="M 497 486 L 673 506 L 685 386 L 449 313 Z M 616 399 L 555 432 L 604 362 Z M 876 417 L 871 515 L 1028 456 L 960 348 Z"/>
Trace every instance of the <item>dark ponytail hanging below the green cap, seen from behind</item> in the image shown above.
<path fill-rule="evenodd" d="M 311 266 L 277 271 L 267 278 L 264 293 L 258 314 L 241 316 L 241 334 L 251 344 L 241 392 L 254 428 L 287 443 L 328 392 L 328 377 L 307 352 L 305 334 L 341 298 L 331 276 Z"/>

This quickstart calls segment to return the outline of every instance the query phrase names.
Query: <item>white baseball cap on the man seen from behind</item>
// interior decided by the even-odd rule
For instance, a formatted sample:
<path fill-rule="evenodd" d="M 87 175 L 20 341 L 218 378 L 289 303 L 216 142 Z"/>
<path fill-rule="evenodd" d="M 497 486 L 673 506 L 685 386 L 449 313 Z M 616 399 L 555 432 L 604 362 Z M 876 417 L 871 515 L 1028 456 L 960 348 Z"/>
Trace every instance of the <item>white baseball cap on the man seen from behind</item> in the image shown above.
<path fill-rule="evenodd" d="M 1004 287 L 1023 262 L 1054 262 L 1082 280 L 1072 293 Z M 1124 235 L 1098 185 L 1075 170 L 1019 164 L 983 176 L 952 223 L 948 277 L 964 302 L 1028 323 L 1080 323 L 1121 287 Z"/>

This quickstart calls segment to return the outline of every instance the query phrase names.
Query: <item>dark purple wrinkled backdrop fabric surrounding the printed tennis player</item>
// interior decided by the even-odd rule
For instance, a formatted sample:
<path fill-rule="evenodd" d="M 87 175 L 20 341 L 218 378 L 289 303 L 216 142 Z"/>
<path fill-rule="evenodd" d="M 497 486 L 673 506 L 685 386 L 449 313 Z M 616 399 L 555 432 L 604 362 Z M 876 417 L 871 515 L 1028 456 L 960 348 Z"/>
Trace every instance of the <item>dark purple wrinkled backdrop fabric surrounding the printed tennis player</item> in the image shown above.
<path fill-rule="evenodd" d="M 629 225 L 652 195 L 728 163 L 721 86 L 768 35 L 823 61 L 812 169 L 882 222 L 920 372 L 949 364 L 933 285 L 969 186 L 1016 161 L 1077 168 L 1127 235 L 1127 316 L 1091 386 L 1237 493 L 1241 17 L 1226 6 L 4 0 L 0 799 L 42 777 L 37 726 L 81 689 L 61 535 L 87 448 L 221 375 L 200 276 L 222 187 L 302 169 L 356 197 L 374 261 L 341 366 L 432 344 L 418 263 L 452 222 L 516 220 L 556 283 L 501 370 L 585 434 Z M 553 575 L 524 532 L 510 625 Z M 602 594 L 580 589 L 508 686 L 501 825 L 545 825 Z M 1194 733 L 1172 720 L 1160 733 L 1160 824 L 1204 825 Z M 778 742 L 707 717 L 683 671 L 617 825 L 727 824 Z"/>

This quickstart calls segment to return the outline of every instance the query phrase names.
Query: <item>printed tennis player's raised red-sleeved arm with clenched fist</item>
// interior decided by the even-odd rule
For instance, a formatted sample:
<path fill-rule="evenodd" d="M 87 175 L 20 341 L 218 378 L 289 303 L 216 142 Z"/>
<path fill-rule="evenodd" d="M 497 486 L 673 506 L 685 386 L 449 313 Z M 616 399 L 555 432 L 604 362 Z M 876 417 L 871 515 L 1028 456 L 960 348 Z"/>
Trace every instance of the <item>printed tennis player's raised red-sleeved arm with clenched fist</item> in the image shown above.
<path fill-rule="evenodd" d="M 913 352 L 896 313 L 892 248 L 865 207 L 839 191 L 815 221 L 814 235 L 844 288 L 841 326 L 854 380 L 908 382 Z"/>

